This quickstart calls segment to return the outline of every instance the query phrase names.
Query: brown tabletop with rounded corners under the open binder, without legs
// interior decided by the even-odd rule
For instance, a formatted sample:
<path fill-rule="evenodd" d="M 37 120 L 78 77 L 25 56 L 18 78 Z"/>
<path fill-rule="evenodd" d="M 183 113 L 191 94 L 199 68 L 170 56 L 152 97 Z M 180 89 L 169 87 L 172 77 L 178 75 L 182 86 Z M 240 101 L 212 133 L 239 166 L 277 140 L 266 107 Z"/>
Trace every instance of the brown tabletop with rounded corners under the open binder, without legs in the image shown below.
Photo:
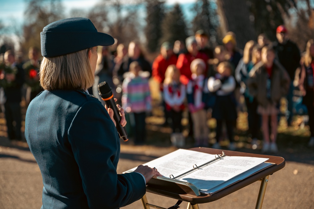
<path fill-rule="evenodd" d="M 191 202 L 195 204 L 207 203 L 207 202 L 218 200 L 226 195 L 229 195 L 237 190 L 240 190 L 241 188 L 247 185 L 250 185 L 268 175 L 275 173 L 276 171 L 284 168 L 285 166 L 284 158 L 277 157 L 277 156 L 252 154 L 252 153 L 245 153 L 245 152 L 238 152 L 238 151 L 219 150 L 219 149 L 212 149 L 212 148 L 205 148 L 205 147 L 195 147 L 189 150 L 205 152 L 209 154 L 221 154 L 222 151 L 224 151 L 227 156 L 264 157 L 264 158 L 269 158 L 269 160 L 267 160 L 266 162 L 274 163 L 274 165 L 269 168 L 266 168 L 265 170 L 259 171 L 258 173 L 246 179 L 243 179 L 233 185 L 230 185 L 229 187 L 223 190 L 220 190 L 214 194 L 209 194 L 209 195 L 201 194 L 199 196 L 196 196 L 190 192 L 187 192 L 186 190 L 178 190 L 175 188 L 172 190 L 171 189 L 172 187 L 170 188 L 165 187 L 165 189 L 163 189 L 163 186 L 156 187 L 154 185 L 147 185 L 146 192 L 174 198 L 177 200 L 187 201 L 187 202 Z"/>

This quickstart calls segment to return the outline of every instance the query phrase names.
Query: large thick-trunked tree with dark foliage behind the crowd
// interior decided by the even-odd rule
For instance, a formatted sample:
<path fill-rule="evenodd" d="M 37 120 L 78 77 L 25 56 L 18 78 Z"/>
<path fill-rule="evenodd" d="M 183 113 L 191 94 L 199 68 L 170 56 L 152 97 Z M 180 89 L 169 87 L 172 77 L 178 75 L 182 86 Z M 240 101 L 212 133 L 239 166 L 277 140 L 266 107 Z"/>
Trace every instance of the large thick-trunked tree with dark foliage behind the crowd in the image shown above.
<path fill-rule="evenodd" d="M 298 15 L 295 0 L 217 0 L 222 33 L 233 31 L 237 36 L 238 47 L 243 48 L 249 40 L 256 40 L 258 34 L 276 40 L 276 28 Z M 310 5 L 304 1 L 304 5 Z M 293 8 L 291 15 L 290 11 Z M 302 13 L 301 13 L 302 14 Z M 308 13 L 310 14 L 310 13 Z"/>

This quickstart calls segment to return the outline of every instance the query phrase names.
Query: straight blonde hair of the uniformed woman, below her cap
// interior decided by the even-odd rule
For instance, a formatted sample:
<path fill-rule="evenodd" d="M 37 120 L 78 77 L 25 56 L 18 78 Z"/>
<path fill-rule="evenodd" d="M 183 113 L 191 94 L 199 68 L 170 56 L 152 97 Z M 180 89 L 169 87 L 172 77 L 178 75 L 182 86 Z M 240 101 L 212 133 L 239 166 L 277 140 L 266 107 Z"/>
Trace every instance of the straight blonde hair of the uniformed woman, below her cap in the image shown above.
<path fill-rule="evenodd" d="M 43 89 L 51 91 L 86 90 L 94 84 L 94 75 L 88 58 L 88 51 L 78 52 L 46 58 L 41 61 L 39 70 L 40 85 Z"/>

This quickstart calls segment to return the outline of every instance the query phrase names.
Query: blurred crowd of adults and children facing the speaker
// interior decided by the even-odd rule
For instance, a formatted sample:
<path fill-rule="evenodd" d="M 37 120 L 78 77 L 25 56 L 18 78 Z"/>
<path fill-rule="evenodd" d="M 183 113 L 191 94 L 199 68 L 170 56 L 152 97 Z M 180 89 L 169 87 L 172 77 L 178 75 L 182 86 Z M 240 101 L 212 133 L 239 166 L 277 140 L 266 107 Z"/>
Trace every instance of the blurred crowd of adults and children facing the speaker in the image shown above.
<path fill-rule="evenodd" d="M 170 140 L 185 146 L 182 118 L 188 113 L 189 135 L 195 146 L 209 146 L 209 117 L 215 118 L 216 143 L 224 137 L 235 150 L 234 129 L 238 113 L 246 111 L 253 149 L 262 140 L 262 152 L 278 152 L 276 144 L 278 118 L 284 116 L 290 126 L 294 113 L 308 114 L 311 131 L 308 146 L 314 146 L 314 41 L 300 53 L 289 40 L 284 25 L 276 30 L 277 40 L 264 34 L 250 40 L 244 49 L 237 47 L 236 34 L 228 32 L 222 45 L 209 46 L 208 35 L 198 30 L 185 41 L 164 42 L 160 54 L 149 62 L 140 42 L 115 43 L 98 48 L 95 85 L 87 91 L 97 96 L 103 81 L 112 87 L 128 120 L 127 129 L 135 144 L 145 144 L 147 115 L 152 99 L 149 80 L 159 85 L 164 126 L 172 128 Z M 0 105 L 5 113 L 10 140 L 21 140 L 21 100 L 26 105 L 42 91 L 39 83 L 40 51 L 29 49 L 29 61 L 23 62 L 14 51 L 0 56 Z M 298 95 L 295 94 L 298 90 Z M 298 100 L 296 100 L 299 98 Z M 280 111 L 286 98 L 287 111 Z M 211 114 L 208 114 L 211 113 Z M 262 138 L 259 138 L 260 131 Z"/>

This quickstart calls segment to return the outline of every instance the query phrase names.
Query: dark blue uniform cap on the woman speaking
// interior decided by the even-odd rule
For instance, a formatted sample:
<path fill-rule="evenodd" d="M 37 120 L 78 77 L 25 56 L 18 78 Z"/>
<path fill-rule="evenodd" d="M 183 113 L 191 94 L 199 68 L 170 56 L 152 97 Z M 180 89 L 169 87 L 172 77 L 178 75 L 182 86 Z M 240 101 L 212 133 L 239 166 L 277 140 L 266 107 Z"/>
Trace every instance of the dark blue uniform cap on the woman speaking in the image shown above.
<path fill-rule="evenodd" d="M 40 39 L 43 57 L 57 57 L 114 43 L 113 37 L 98 32 L 90 19 L 81 17 L 50 23 L 40 33 Z"/>

